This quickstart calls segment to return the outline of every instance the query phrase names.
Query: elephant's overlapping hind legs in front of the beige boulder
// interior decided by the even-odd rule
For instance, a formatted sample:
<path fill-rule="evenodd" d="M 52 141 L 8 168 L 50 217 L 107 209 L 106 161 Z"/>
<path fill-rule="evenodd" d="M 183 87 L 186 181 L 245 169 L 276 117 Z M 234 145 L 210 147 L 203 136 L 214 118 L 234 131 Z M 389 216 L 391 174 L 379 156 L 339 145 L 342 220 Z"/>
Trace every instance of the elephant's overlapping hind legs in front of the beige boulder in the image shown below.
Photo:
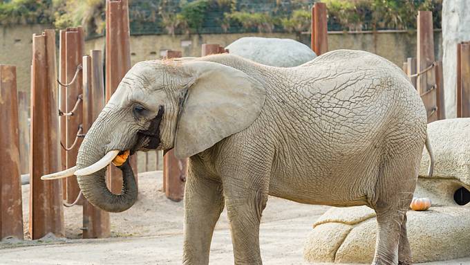
<path fill-rule="evenodd" d="M 381 171 L 376 187 L 377 242 L 373 264 L 395 265 L 411 261 L 406 210 L 416 186 L 415 163 L 405 159 L 392 160 Z"/>

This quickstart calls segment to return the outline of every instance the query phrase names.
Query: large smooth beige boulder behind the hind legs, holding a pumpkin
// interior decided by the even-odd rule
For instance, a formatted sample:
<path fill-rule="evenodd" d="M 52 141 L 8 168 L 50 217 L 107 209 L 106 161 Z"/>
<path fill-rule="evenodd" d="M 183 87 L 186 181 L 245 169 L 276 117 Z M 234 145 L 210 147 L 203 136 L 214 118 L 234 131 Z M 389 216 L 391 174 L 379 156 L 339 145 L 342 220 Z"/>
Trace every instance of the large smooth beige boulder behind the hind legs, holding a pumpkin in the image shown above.
<path fill-rule="evenodd" d="M 439 120 L 428 125 L 435 157 L 423 151 L 415 197 L 428 197 L 424 212 L 408 211 L 408 239 L 413 262 L 433 262 L 470 255 L 470 208 L 454 201 L 455 191 L 470 188 L 470 118 Z M 375 212 L 366 206 L 331 208 L 315 223 L 304 248 L 309 262 L 369 263 L 375 251 Z"/>

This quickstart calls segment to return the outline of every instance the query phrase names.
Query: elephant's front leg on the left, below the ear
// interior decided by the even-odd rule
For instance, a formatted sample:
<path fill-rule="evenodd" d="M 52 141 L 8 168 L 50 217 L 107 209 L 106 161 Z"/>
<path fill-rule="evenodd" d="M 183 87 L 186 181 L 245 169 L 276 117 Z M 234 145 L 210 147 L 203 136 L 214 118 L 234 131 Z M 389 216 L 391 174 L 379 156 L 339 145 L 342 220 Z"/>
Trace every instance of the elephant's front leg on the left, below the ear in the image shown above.
<path fill-rule="evenodd" d="M 223 208 L 222 184 L 191 168 L 185 186 L 183 264 L 209 264 L 212 234 Z"/>

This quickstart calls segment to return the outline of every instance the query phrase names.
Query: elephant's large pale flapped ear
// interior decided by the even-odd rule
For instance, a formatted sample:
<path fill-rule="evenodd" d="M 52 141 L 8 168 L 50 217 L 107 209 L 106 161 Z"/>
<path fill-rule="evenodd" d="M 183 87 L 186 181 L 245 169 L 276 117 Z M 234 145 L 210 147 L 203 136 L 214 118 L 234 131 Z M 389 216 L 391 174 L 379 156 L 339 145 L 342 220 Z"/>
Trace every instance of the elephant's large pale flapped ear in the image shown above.
<path fill-rule="evenodd" d="M 194 79 L 176 127 L 176 157 L 203 152 L 259 116 L 265 89 L 246 73 L 214 62 L 186 62 L 182 67 Z"/>

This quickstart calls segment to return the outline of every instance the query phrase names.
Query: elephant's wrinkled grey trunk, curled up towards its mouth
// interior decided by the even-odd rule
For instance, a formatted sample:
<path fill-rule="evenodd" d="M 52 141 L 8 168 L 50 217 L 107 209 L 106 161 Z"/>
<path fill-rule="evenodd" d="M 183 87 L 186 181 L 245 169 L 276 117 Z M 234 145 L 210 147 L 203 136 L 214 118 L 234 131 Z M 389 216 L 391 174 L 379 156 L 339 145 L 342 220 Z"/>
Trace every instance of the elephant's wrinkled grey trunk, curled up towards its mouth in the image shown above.
<path fill-rule="evenodd" d="M 88 136 L 88 135 L 87 135 Z M 93 136 L 95 138 L 96 136 Z M 77 156 L 77 168 L 82 169 L 93 165 L 102 158 L 96 146 L 91 143 L 93 138 L 85 137 Z M 122 192 L 113 194 L 106 186 L 106 167 L 88 176 L 77 176 L 77 181 L 84 197 L 97 208 L 107 212 L 122 212 L 131 208 L 137 199 L 137 185 L 129 165 L 129 159 L 120 167 L 122 171 Z"/>

